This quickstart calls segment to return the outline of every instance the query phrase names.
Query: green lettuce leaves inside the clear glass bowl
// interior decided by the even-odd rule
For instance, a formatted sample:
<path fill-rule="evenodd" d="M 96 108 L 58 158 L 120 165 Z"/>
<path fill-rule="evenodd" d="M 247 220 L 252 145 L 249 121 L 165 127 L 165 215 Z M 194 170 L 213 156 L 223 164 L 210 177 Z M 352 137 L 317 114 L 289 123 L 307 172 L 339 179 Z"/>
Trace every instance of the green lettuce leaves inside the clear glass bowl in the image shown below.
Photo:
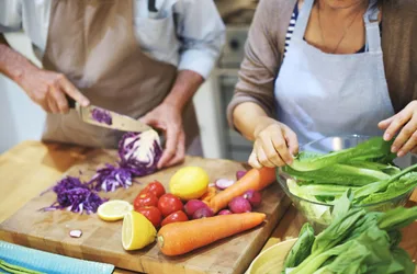
<path fill-rule="evenodd" d="M 417 164 L 401 170 L 390 151 L 392 141 L 374 137 L 356 147 L 329 153 L 301 152 L 282 171 L 291 176 L 292 194 L 312 202 L 333 204 L 347 190 L 354 205 L 385 202 L 417 186 Z"/>

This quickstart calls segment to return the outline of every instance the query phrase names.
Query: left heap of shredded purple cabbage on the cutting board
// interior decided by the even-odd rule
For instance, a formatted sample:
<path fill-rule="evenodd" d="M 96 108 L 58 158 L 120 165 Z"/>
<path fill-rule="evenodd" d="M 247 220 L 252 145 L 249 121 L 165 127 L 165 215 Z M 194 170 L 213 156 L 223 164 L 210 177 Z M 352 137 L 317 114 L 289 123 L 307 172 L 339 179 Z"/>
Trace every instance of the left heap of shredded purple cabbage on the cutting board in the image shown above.
<path fill-rule="evenodd" d="M 57 201 L 48 207 L 42 208 L 44 212 L 64 209 L 82 214 L 95 213 L 99 206 L 108 199 L 102 199 L 89 185 L 81 183 L 78 178 L 66 176 L 60 180 L 53 190 L 57 194 Z M 43 194 L 41 194 L 43 195 Z"/>

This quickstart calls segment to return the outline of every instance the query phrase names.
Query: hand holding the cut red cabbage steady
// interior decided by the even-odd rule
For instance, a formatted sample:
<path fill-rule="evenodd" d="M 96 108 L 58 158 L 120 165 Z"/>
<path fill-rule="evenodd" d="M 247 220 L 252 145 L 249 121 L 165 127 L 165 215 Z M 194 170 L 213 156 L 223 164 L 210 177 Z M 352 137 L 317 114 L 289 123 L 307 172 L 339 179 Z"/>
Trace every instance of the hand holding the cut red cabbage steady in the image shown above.
<path fill-rule="evenodd" d="M 166 148 L 158 162 L 158 169 L 180 163 L 185 158 L 185 134 L 182 127 L 181 111 L 162 103 L 147 113 L 140 121 L 164 130 Z"/>

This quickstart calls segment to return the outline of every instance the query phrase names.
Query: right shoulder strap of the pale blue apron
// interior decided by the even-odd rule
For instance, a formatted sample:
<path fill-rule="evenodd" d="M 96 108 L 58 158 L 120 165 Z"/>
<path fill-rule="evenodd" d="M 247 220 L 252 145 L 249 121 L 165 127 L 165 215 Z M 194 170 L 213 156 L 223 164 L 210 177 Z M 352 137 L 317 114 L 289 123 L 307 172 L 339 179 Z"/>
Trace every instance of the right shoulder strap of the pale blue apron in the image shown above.
<path fill-rule="evenodd" d="M 380 23 L 377 22 L 379 13 L 377 0 L 371 0 L 368 11 L 363 15 L 367 30 L 365 49 L 369 53 L 382 53 Z"/>

